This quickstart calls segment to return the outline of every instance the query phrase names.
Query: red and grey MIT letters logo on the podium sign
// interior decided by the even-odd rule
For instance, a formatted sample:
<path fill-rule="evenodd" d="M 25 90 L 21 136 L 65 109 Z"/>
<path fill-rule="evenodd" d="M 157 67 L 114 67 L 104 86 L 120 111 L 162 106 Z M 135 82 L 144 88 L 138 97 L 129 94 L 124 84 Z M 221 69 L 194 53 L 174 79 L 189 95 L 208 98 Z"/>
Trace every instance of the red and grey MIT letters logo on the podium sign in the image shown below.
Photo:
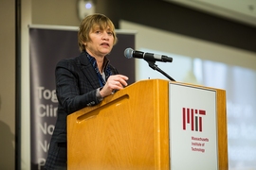
<path fill-rule="evenodd" d="M 206 115 L 206 110 L 193 110 L 189 108 L 182 109 L 183 129 L 186 130 L 186 125 L 191 124 L 192 131 L 202 131 L 202 116 Z"/>

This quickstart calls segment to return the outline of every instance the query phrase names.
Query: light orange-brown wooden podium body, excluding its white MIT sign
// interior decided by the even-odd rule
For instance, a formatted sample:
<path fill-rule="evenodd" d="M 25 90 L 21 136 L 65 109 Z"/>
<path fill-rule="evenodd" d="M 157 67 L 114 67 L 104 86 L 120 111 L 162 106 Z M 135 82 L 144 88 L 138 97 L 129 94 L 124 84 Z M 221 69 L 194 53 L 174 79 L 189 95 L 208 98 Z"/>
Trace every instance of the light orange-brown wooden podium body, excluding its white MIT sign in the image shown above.
<path fill-rule="evenodd" d="M 70 114 L 68 169 L 175 169 L 170 154 L 170 84 L 216 91 L 217 169 L 228 169 L 226 92 L 162 79 L 138 81 L 98 106 Z"/>

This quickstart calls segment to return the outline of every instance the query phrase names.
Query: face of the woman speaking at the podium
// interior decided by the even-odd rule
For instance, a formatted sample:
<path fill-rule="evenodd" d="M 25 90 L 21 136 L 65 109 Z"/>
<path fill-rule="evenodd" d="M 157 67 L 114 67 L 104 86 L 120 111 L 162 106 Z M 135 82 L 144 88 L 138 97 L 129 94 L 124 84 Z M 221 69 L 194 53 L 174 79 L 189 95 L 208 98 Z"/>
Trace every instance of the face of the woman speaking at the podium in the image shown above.
<path fill-rule="evenodd" d="M 95 27 L 89 33 L 90 42 L 84 42 L 86 51 L 93 57 L 104 57 L 113 48 L 114 36 L 109 27 L 101 30 Z"/>

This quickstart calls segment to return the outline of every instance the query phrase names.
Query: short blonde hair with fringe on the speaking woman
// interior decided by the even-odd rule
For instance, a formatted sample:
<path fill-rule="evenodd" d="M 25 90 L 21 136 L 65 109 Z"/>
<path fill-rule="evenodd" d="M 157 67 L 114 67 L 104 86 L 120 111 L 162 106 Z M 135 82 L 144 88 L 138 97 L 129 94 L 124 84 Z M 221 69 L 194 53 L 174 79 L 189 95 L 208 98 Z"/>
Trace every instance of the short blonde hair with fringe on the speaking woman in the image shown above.
<path fill-rule="evenodd" d="M 95 14 L 86 16 L 82 20 L 82 23 L 79 27 L 78 44 L 81 52 L 85 51 L 85 46 L 83 43 L 91 41 L 89 34 L 91 30 L 93 30 L 96 27 L 100 27 L 101 30 L 105 30 L 109 28 L 109 30 L 113 32 L 114 45 L 118 42 L 115 26 L 112 23 L 112 21 L 103 14 L 95 13 Z"/>

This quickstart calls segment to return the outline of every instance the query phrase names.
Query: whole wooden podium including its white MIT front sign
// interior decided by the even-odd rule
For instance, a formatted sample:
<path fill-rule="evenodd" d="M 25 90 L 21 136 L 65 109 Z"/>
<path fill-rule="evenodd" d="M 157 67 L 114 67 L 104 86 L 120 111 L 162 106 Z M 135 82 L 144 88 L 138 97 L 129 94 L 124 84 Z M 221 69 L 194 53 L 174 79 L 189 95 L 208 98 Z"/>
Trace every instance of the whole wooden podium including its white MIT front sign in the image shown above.
<path fill-rule="evenodd" d="M 67 117 L 68 170 L 229 169 L 226 92 L 150 79 Z"/>

